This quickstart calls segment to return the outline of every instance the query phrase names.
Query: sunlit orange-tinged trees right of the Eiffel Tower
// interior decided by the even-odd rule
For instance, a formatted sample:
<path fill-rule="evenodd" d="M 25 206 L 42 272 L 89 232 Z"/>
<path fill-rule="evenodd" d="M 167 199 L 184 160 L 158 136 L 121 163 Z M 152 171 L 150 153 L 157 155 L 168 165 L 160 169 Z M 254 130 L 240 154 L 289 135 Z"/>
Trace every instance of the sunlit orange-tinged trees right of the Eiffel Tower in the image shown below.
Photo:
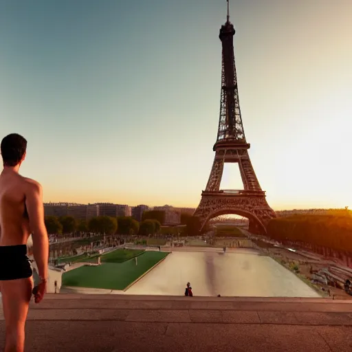
<path fill-rule="evenodd" d="M 352 216 L 295 215 L 272 219 L 267 234 L 276 241 L 300 241 L 352 252 Z"/>

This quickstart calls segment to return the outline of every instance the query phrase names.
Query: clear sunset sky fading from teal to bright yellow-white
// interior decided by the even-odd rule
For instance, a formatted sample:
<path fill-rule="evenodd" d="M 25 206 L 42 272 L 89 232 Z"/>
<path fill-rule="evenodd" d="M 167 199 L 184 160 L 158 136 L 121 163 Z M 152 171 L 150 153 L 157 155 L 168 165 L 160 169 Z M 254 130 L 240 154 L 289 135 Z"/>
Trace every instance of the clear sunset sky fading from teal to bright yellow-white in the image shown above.
<path fill-rule="evenodd" d="M 1 137 L 28 140 L 44 201 L 198 205 L 225 19 L 225 0 L 0 0 Z M 230 0 L 230 21 L 270 206 L 352 208 L 352 1 Z"/>

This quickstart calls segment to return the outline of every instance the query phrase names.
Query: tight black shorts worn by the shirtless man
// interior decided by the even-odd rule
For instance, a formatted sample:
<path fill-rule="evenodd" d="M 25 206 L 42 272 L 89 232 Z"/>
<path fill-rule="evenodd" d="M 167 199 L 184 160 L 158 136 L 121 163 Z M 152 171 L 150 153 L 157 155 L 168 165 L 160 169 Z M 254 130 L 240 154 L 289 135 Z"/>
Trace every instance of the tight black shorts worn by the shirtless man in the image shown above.
<path fill-rule="evenodd" d="M 27 245 L 0 245 L 0 281 L 32 276 Z"/>

